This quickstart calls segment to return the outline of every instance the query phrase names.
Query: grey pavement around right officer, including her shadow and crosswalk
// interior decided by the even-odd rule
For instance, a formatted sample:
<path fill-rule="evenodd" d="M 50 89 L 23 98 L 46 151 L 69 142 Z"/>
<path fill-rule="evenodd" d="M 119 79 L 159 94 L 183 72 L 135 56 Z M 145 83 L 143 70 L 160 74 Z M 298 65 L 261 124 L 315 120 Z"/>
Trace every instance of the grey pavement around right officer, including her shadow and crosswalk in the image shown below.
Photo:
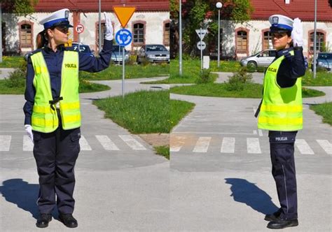
<path fill-rule="evenodd" d="M 303 101 L 305 129 L 296 142 L 300 226 L 290 231 L 332 230 L 332 130 L 309 110 L 310 103 L 332 101 L 332 93 L 317 89 L 327 95 Z M 254 118 L 260 100 L 171 99 L 196 104 L 170 136 L 171 229 L 267 231 L 263 217 L 279 205 L 267 132 L 257 130 Z"/>

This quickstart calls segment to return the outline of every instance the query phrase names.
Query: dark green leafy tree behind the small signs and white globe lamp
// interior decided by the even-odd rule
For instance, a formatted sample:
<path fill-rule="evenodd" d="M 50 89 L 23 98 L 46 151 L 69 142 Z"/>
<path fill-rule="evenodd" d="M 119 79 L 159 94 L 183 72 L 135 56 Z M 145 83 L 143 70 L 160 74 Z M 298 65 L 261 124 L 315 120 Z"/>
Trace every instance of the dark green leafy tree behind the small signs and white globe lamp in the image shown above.
<path fill-rule="evenodd" d="M 250 20 L 251 13 L 254 11 L 250 0 L 182 0 L 182 19 L 183 19 L 183 43 L 184 52 L 195 55 L 196 43 L 198 36 L 195 29 L 205 27 L 209 30 L 209 34 L 205 41 L 209 47 L 216 45 L 215 38 L 218 35 L 218 10 L 216 2 L 221 1 L 221 18 L 230 20 L 230 25 L 242 23 Z M 179 0 L 170 0 L 171 19 L 173 22 L 173 33 L 179 33 Z M 173 36 L 172 38 L 176 38 Z M 172 41 L 173 45 L 178 41 Z M 171 48 L 177 46 L 171 45 Z M 172 51 L 173 53 L 176 51 Z"/>

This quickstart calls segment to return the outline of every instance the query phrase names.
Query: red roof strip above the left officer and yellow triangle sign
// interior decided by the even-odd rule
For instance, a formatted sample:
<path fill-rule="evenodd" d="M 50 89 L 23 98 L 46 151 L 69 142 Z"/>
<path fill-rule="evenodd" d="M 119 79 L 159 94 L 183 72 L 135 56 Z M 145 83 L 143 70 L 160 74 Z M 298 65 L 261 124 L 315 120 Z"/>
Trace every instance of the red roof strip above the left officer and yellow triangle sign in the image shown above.
<path fill-rule="evenodd" d="M 165 0 L 102 0 L 102 11 L 113 11 L 113 6 L 135 6 L 136 11 L 169 11 L 170 1 Z M 55 11 L 62 8 L 79 11 L 98 11 L 99 0 L 39 0 L 36 12 Z"/>

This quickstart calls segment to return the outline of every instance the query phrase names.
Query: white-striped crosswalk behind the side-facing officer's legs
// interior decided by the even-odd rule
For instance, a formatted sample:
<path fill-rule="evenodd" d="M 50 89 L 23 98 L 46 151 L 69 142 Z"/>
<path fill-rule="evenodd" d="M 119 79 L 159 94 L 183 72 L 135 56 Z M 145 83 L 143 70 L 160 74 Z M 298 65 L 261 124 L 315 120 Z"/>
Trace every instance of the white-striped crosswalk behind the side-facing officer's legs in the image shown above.
<path fill-rule="evenodd" d="M 193 152 L 193 153 L 210 153 L 218 152 L 226 154 L 242 153 L 262 154 L 270 152 L 267 138 L 234 138 L 223 137 L 213 138 L 209 136 L 192 137 L 192 136 L 175 136 L 170 137 L 170 152 Z M 332 143 L 328 140 L 312 140 L 310 143 L 303 138 L 297 138 L 296 154 L 332 154 Z"/>

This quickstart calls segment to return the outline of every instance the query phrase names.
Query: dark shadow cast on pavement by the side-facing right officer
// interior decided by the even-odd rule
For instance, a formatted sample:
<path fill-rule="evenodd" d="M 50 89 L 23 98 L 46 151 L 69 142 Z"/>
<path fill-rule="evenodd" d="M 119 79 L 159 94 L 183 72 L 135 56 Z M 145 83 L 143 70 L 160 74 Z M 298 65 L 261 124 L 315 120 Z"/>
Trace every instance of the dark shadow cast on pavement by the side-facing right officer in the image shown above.
<path fill-rule="evenodd" d="M 225 178 L 226 184 L 231 184 L 230 190 L 234 201 L 244 203 L 263 215 L 278 210 L 277 205 L 271 201 L 271 197 L 256 184 L 239 178 Z"/>

